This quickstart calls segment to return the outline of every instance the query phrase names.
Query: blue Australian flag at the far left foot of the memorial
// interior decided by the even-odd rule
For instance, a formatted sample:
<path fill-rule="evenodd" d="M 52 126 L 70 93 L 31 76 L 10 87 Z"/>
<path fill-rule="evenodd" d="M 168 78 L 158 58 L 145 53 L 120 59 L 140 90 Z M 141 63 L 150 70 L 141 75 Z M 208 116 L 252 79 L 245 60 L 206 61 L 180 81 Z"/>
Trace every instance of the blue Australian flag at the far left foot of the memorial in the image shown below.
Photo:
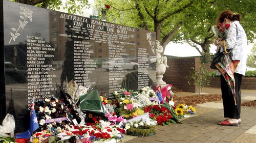
<path fill-rule="evenodd" d="M 38 122 L 37 122 L 37 118 L 36 118 L 36 114 L 35 114 L 35 108 L 34 108 L 34 98 L 32 100 L 31 103 L 31 109 L 30 109 L 30 127 L 26 132 L 17 134 L 15 136 L 15 138 L 30 138 L 30 136 L 32 135 L 33 131 L 35 131 L 36 129 L 39 128 Z"/>

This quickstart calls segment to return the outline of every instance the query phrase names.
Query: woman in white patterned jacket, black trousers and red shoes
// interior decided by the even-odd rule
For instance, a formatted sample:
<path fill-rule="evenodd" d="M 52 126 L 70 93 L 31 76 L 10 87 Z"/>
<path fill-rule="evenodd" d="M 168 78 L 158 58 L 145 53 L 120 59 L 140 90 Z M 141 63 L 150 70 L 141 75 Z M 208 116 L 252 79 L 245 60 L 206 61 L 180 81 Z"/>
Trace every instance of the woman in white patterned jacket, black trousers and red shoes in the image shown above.
<path fill-rule="evenodd" d="M 245 75 L 246 71 L 246 46 L 247 46 L 247 37 L 243 27 L 240 24 L 241 14 L 234 14 L 230 10 L 225 10 L 220 13 L 216 22 L 230 24 L 230 27 L 227 31 L 226 41 L 223 42 L 221 39 L 215 40 L 215 45 L 220 45 L 224 47 L 224 44 L 227 49 L 232 49 L 232 60 L 239 60 L 237 69 L 234 71 L 234 79 L 236 83 L 236 102 L 233 99 L 231 90 L 228 87 L 225 78 L 221 76 L 221 92 L 222 100 L 224 107 L 224 121 L 219 122 L 219 125 L 225 126 L 238 126 L 241 124 L 240 113 L 241 113 L 241 82 L 242 77 Z M 221 48 L 223 51 L 223 48 Z"/>

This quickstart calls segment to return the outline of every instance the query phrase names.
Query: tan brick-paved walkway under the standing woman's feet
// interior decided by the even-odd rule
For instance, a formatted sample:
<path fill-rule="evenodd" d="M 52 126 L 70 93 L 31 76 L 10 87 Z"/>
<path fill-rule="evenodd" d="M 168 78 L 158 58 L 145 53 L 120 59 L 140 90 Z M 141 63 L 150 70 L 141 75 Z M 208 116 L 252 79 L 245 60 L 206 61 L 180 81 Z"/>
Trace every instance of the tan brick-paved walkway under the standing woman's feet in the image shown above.
<path fill-rule="evenodd" d="M 220 89 L 206 88 L 204 90 L 208 94 L 220 94 L 218 93 Z M 177 94 L 177 96 L 182 96 L 182 94 Z M 242 97 L 251 97 L 250 100 L 252 100 L 256 97 L 256 90 L 242 90 Z M 223 107 L 219 104 L 220 102 L 214 103 L 210 104 L 214 104 L 215 109 L 184 119 L 183 124 L 157 126 L 155 135 L 136 137 L 126 142 L 256 142 L 256 108 L 241 107 L 242 125 L 220 126 L 217 123 L 224 119 Z"/>

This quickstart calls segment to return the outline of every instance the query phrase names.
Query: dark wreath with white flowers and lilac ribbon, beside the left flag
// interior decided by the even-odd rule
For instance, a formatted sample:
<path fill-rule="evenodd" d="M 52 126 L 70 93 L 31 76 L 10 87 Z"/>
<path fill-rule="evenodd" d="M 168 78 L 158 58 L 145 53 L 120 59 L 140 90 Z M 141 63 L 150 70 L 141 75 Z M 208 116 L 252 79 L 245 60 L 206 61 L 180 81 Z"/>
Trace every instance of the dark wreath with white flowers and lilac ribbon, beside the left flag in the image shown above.
<path fill-rule="evenodd" d="M 35 103 L 36 117 L 39 123 L 39 130 L 56 130 L 63 128 L 66 124 L 71 125 L 74 119 L 74 109 L 61 99 L 52 97 Z"/>

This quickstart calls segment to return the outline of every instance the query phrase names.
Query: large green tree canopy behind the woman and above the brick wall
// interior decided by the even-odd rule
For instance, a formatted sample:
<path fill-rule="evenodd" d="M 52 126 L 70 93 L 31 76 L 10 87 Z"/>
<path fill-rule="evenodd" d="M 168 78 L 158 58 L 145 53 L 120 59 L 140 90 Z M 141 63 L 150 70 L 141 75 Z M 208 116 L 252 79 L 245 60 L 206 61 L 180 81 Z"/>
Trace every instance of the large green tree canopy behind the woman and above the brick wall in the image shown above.
<path fill-rule="evenodd" d="M 156 32 L 157 40 L 165 47 L 170 41 L 187 42 L 209 61 L 210 44 L 216 38 L 211 31 L 218 14 L 225 9 L 242 14 L 247 39 L 255 39 L 256 1 L 243 0 L 98 0 L 99 4 L 110 4 L 110 22 L 140 27 Z M 202 52 L 200 50 L 202 48 Z M 208 58 L 208 59 L 207 59 Z"/>

